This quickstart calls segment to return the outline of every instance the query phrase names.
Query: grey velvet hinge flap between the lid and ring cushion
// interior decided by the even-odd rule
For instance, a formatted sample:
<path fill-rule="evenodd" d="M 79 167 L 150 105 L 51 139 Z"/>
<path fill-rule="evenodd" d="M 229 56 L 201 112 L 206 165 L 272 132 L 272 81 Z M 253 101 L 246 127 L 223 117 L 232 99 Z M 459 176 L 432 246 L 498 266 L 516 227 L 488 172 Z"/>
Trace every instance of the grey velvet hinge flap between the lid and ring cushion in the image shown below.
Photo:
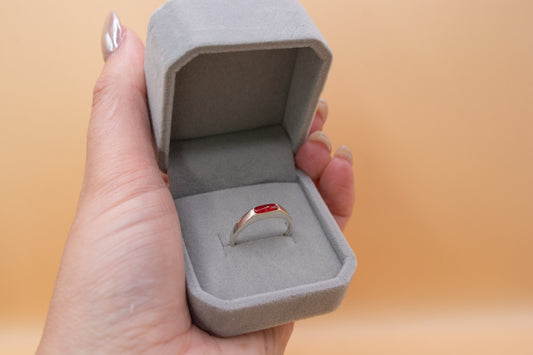
<path fill-rule="evenodd" d="M 290 141 L 281 126 L 173 140 L 168 176 L 175 198 L 265 182 L 296 181 Z"/>

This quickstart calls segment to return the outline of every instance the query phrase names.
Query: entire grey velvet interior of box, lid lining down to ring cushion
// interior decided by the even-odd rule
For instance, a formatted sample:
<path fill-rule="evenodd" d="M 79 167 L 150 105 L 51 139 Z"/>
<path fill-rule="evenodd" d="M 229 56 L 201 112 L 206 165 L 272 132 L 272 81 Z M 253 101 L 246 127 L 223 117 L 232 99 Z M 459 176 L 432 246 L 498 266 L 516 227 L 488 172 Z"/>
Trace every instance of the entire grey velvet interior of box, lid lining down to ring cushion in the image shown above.
<path fill-rule="evenodd" d="M 236 51 L 200 54 L 175 74 L 170 190 L 198 282 L 219 299 L 328 280 L 342 268 L 293 158 L 322 64 L 306 47 Z M 230 246 L 239 218 L 271 202 L 292 216 L 293 235 L 268 219 Z"/>

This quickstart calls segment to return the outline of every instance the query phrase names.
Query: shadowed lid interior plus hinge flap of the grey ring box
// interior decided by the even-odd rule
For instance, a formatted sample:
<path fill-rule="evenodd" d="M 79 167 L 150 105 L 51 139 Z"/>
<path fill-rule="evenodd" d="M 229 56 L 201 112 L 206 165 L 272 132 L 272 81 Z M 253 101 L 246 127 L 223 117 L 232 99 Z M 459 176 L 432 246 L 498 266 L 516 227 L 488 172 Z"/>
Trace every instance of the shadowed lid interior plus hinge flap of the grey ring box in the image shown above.
<path fill-rule="evenodd" d="M 295 181 L 323 60 L 308 47 L 199 54 L 175 74 L 174 197 Z M 312 119 L 312 117 L 311 117 Z"/>

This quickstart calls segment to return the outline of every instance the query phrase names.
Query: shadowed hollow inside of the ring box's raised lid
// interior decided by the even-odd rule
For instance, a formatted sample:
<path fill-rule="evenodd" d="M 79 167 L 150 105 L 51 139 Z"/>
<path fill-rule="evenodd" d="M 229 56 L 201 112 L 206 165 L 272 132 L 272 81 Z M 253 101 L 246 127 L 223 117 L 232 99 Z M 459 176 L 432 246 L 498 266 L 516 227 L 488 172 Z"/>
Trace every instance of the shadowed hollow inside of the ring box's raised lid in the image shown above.
<path fill-rule="evenodd" d="M 282 125 L 301 144 L 323 64 L 309 47 L 197 55 L 176 73 L 171 141 Z"/>

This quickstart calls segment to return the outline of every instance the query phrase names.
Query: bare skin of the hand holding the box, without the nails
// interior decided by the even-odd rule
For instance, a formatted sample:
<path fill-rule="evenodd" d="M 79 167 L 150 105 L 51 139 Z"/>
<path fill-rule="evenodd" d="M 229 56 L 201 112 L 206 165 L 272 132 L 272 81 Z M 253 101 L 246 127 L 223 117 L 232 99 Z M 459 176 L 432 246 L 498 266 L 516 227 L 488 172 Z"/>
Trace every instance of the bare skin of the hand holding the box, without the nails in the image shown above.
<path fill-rule="evenodd" d="M 292 323 L 227 339 L 191 324 L 179 219 L 152 145 L 144 48 L 132 31 L 122 36 L 95 85 L 84 182 L 38 354 L 282 353 Z M 313 131 L 327 116 L 320 105 Z M 343 228 L 350 159 L 308 140 L 296 162 Z"/>

